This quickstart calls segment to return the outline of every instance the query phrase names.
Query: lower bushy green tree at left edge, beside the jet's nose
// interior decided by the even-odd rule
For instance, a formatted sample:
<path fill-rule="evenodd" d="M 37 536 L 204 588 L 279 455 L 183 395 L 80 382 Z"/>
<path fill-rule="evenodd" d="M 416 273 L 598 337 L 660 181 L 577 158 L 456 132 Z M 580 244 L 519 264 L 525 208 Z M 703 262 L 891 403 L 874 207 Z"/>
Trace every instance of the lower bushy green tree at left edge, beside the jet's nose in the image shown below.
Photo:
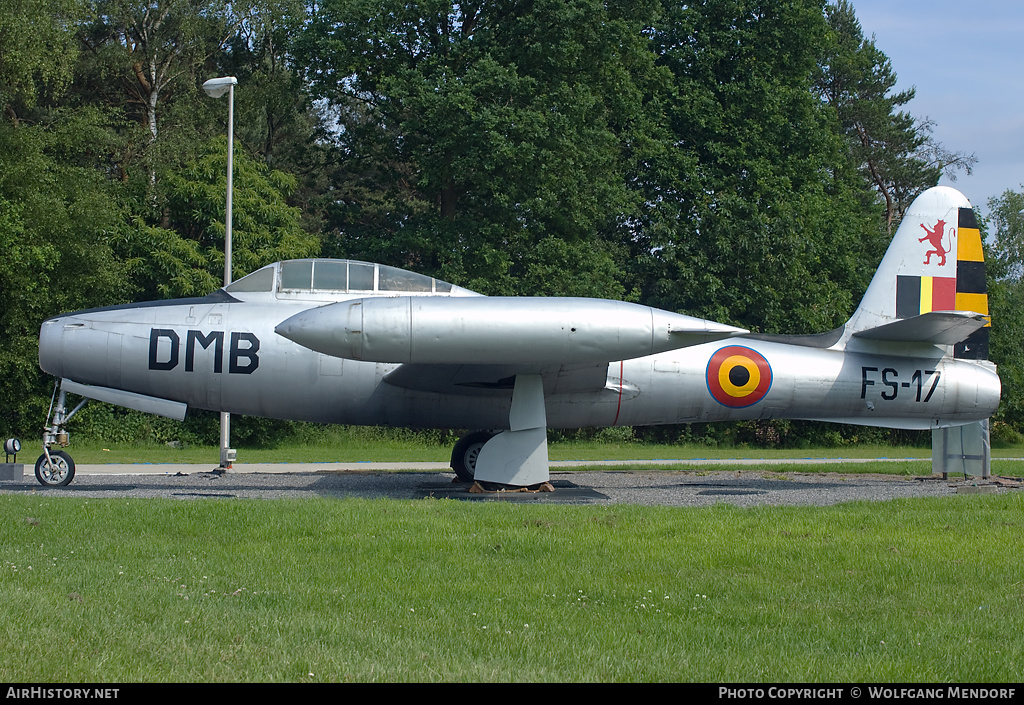
<path fill-rule="evenodd" d="M 56 314 L 126 300 L 125 271 L 112 244 L 122 209 L 83 152 L 105 131 L 95 112 L 58 113 L 45 123 L 0 121 L 0 419 L 10 432 L 37 429 L 45 380 L 39 326 Z"/>

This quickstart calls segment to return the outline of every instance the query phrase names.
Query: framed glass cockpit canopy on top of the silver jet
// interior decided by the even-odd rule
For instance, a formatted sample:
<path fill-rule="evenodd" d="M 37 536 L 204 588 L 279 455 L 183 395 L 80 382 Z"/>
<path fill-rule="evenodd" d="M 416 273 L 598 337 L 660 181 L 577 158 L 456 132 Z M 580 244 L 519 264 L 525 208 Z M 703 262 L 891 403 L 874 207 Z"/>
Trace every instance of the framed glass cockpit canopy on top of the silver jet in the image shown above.
<path fill-rule="evenodd" d="M 271 294 L 276 298 L 339 299 L 373 295 L 472 296 L 468 289 L 433 277 L 354 259 L 289 259 L 268 264 L 233 282 L 231 295 Z M 262 297 L 260 297 L 262 298 Z"/>

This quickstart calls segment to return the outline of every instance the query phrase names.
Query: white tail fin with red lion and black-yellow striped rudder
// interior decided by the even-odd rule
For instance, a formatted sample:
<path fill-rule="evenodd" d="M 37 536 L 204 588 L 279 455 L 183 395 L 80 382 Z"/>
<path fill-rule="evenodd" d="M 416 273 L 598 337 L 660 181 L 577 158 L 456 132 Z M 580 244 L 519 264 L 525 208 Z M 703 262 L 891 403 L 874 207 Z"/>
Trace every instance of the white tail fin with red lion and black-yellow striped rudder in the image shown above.
<path fill-rule="evenodd" d="M 990 325 L 971 202 L 954 189 L 929 189 L 906 211 L 846 333 L 953 345 L 953 357 L 986 360 Z"/>

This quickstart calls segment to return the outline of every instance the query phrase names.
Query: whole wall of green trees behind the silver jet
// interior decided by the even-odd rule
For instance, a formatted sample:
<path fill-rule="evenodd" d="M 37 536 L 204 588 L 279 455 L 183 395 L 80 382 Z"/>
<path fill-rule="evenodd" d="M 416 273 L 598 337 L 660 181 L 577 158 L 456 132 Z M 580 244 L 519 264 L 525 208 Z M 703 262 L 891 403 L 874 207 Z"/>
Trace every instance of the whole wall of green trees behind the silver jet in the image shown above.
<path fill-rule="evenodd" d="M 903 111 L 912 91 L 894 92 L 846 0 L 8 5 L 12 432 L 41 416 L 43 319 L 221 281 L 227 111 L 200 89 L 214 76 L 239 78 L 236 276 L 322 253 L 820 331 L 913 196 L 973 164 Z M 993 301 L 1015 305 L 1000 277 Z"/>

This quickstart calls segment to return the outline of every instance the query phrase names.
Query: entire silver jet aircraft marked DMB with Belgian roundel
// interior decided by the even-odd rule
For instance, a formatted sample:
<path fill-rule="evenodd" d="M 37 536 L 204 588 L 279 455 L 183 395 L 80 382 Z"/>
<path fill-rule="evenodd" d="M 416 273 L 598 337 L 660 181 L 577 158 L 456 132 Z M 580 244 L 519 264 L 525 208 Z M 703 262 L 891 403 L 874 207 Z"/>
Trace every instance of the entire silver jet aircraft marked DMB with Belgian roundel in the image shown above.
<path fill-rule="evenodd" d="M 999 401 L 988 326 L 974 211 L 947 188 L 914 201 L 853 316 L 820 335 L 754 335 L 622 301 L 486 297 L 368 262 L 276 262 L 202 298 L 44 322 L 39 364 L 60 393 L 36 475 L 74 476 L 55 448 L 68 393 L 179 419 L 195 408 L 478 429 L 456 444 L 458 478 L 517 487 L 548 480 L 548 427 L 967 424 Z"/>

